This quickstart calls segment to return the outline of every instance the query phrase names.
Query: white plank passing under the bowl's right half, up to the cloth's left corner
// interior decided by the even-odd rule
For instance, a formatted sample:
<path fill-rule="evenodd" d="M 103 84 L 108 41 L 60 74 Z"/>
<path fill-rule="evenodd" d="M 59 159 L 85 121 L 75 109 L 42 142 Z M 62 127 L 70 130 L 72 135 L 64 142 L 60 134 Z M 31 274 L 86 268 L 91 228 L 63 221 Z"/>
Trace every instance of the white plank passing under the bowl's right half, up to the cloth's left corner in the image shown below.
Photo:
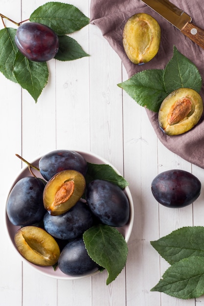
<path fill-rule="evenodd" d="M 100 30 L 90 25 L 91 151 L 104 157 L 123 175 L 121 61 Z M 125 305 L 125 269 L 106 285 L 107 272 L 92 277 L 92 305 Z"/>

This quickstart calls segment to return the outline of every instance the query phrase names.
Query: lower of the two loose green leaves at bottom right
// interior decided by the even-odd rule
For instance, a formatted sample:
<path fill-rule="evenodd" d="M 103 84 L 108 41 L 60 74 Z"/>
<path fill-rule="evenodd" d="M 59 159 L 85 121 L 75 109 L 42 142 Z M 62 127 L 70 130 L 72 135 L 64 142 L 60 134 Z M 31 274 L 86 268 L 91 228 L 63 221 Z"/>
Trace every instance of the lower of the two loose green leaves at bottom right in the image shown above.
<path fill-rule="evenodd" d="M 204 294 L 204 257 L 191 256 L 174 263 L 151 291 L 180 299 L 200 297 Z"/>

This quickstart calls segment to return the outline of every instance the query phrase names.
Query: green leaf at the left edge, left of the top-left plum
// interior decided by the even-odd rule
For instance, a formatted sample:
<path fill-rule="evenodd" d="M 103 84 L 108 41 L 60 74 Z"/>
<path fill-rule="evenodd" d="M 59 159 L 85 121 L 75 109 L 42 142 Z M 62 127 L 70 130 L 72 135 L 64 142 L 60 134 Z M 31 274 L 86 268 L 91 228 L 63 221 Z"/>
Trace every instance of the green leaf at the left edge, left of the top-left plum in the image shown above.
<path fill-rule="evenodd" d="M 18 52 L 15 44 L 16 29 L 3 28 L 0 30 L 0 72 L 9 79 L 17 83 L 13 74 L 13 63 Z"/>

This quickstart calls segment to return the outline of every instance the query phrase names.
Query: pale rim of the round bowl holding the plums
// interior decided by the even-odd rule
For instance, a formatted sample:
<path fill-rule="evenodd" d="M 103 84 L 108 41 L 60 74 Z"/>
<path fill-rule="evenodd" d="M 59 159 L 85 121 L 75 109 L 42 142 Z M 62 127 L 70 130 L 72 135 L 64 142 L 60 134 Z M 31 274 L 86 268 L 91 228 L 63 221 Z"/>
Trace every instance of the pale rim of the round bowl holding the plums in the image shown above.
<path fill-rule="evenodd" d="M 107 161 L 105 158 L 99 156 L 98 154 L 95 154 L 95 153 L 92 153 L 91 151 L 79 151 L 79 150 L 71 150 L 71 149 L 55 149 L 55 150 L 52 150 L 53 152 L 54 151 L 58 151 L 58 150 L 68 150 L 68 151 L 74 151 L 74 152 L 77 152 L 79 154 L 81 154 L 86 160 L 87 160 L 87 156 L 89 156 L 90 158 L 95 158 L 96 160 L 100 161 L 100 164 L 106 164 L 106 165 L 110 165 L 113 170 L 118 174 L 118 175 L 121 175 L 121 173 L 109 162 Z M 50 151 L 50 152 L 52 152 Z M 48 152 L 49 153 L 49 152 Z M 46 154 L 46 153 L 45 153 Z M 45 155 L 44 154 L 44 155 Z M 40 158 L 44 155 L 40 155 L 38 157 L 36 157 L 33 161 L 31 161 L 30 163 L 33 164 L 33 165 L 36 165 L 37 162 L 39 162 Z M 85 157 L 86 156 L 86 157 Z M 89 158 L 88 158 L 89 159 Z M 91 163 L 91 161 L 88 161 Z M 98 162 L 99 164 L 99 162 Z M 33 169 L 32 169 L 33 170 Z M 14 243 L 14 240 L 12 239 L 11 237 L 11 231 L 9 231 L 9 225 L 13 228 L 13 231 L 14 231 L 14 228 L 15 228 L 15 231 L 20 228 L 20 226 L 15 226 L 13 225 L 9 219 L 8 219 L 8 216 L 7 216 L 7 212 L 6 212 L 6 203 L 7 203 L 7 199 L 8 199 L 8 196 L 12 190 L 12 188 L 14 187 L 14 185 L 17 183 L 17 181 L 19 181 L 19 179 L 21 178 L 21 176 L 23 177 L 23 173 L 26 172 L 26 171 L 29 171 L 28 170 L 28 166 L 25 165 L 21 171 L 19 171 L 19 173 L 17 174 L 17 176 L 15 177 L 15 179 L 13 180 L 13 183 L 12 183 L 12 186 L 9 188 L 9 191 L 7 192 L 6 194 L 6 197 L 5 197 L 5 208 L 4 208 L 4 218 L 3 218 L 3 221 L 4 221 L 4 227 L 6 229 L 6 235 L 8 237 L 8 240 L 10 241 L 11 245 L 13 246 L 13 248 L 15 249 L 15 252 L 20 256 L 20 259 L 25 262 L 26 264 L 28 264 L 29 266 L 33 267 L 35 270 L 37 270 L 38 272 L 40 272 L 41 274 L 47 276 L 47 277 L 51 277 L 51 278 L 54 278 L 54 279 L 59 279 L 59 280 L 77 280 L 77 279 L 83 279 L 83 278 L 86 278 L 86 277 L 89 277 L 89 276 L 93 276 L 97 273 L 100 272 L 100 270 L 96 270 L 96 271 L 92 271 L 91 273 L 89 274 L 84 274 L 84 275 L 79 275 L 79 276 L 71 276 L 71 275 L 66 275 L 64 274 L 63 272 L 60 271 L 60 273 L 62 275 L 57 275 L 56 274 L 56 271 L 54 271 L 53 267 L 49 266 L 49 267 L 43 267 L 43 266 L 38 266 L 38 265 L 35 265 L 33 264 L 32 262 L 28 262 L 17 250 L 16 246 L 15 246 L 15 243 Z M 36 170 L 33 170 L 33 172 L 37 172 Z M 39 172 L 37 172 L 39 174 Z M 41 175 L 39 175 L 41 176 Z M 122 176 L 122 175 L 121 175 Z M 130 192 L 130 189 L 129 187 L 125 187 L 125 189 L 123 190 L 124 193 L 126 194 L 126 196 L 128 197 L 128 200 L 129 200 L 129 204 L 130 204 L 130 217 L 129 217 L 129 221 L 128 223 L 125 225 L 125 227 L 128 228 L 127 232 L 124 236 L 126 242 L 129 241 L 130 239 L 130 236 L 131 236 L 131 233 L 132 233 L 132 230 L 133 230 L 133 223 L 134 223 L 134 202 L 133 202 L 133 198 L 132 198 L 132 195 L 131 195 L 131 192 Z M 124 228 L 124 227 L 122 227 Z M 117 228 L 119 231 L 122 229 L 122 228 Z M 52 273 L 48 273 L 46 271 L 48 271 L 47 268 L 52 268 Z M 50 271 L 50 270 L 49 270 Z"/>

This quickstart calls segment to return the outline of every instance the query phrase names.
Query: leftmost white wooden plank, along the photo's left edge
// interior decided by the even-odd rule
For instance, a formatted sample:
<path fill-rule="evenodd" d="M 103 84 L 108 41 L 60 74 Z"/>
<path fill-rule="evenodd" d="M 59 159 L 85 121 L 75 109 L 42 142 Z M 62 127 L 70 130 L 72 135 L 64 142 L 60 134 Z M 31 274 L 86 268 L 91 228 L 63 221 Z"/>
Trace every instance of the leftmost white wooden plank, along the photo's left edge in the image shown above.
<path fill-rule="evenodd" d="M 11 10 L 10 1 L 3 1 L 1 13 L 18 22 L 21 18 L 21 1 L 13 1 L 12 4 Z M 13 23 L 4 21 L 6 26 L 15 28 Z M 3 29 L 3 23 L 0 23 L 0 29 Z M 0 304 L 20 306 L 22 305 L 22 262 L 5 232 L 4 210 L 11 184 L 22 165 L 15 156 L 15 153 L 21 152 L 21 87 L 0 73 L 0 88 L 0 203 L 2 210 L 0 214 Z"/>

